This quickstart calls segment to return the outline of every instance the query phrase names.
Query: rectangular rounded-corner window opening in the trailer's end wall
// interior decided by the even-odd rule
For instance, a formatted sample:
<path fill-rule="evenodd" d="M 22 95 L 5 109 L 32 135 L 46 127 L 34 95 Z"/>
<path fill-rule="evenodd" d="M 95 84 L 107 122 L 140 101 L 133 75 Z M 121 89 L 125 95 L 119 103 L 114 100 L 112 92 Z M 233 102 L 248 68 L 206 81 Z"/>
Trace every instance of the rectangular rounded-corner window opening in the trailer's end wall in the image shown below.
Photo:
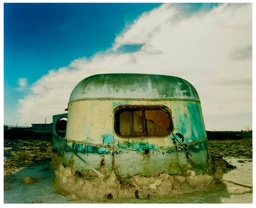
<path fill-rule="evenodd" d="M 165 107 L 122 106 L 115 111 L 116 133 L 121 136 L 167 136 L 173 129 L 171 113 Z"/>

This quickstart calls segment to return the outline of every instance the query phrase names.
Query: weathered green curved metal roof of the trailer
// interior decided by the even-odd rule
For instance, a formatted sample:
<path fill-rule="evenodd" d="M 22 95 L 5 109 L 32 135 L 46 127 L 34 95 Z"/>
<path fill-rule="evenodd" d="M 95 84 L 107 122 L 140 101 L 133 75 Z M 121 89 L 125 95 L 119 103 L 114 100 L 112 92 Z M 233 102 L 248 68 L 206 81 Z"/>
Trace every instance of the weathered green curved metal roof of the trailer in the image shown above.
<path fill-rule="evenodd" d="M 196 89 L 186 80 L 154 74 L 96 74 L 73 89 L 69 103 L 83 99 L 189 99 L 199 101 Z"/>

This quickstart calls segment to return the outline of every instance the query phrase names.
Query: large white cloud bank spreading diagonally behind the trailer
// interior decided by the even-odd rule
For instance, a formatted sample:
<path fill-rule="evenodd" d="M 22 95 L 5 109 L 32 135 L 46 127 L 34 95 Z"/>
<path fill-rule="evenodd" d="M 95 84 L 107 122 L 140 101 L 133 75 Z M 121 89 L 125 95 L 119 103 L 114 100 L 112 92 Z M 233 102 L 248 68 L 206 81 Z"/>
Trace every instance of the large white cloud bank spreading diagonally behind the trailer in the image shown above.
<path fill-rule="evenodd" d="M 141 50 L 120 53 L 122 45 Z M 64 113 L 75 85 L 96 73 L 159 73 L 178 76 L 195 86 L 204 115 L 251 113 L 252 7 L 224 4 L 186 16 L 164 4 L 128 26 L 112 49 L 90 60 L 73 61 L 35 82 L 20 100 L 22 122 L 51 120 Z"/>

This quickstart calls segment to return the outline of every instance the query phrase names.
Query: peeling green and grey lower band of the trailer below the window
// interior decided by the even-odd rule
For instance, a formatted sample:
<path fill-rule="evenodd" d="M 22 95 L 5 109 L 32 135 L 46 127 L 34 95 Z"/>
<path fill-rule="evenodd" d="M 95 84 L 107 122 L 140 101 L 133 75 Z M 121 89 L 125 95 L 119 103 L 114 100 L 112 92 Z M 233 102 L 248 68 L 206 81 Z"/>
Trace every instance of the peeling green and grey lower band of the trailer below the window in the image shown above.
<path fill-rule="evenodd" d="M 118 169 L 118 174 L 121 177 L 130 177 L 135 174 L 142 174 L 145 176 L 154 175 L 157 172 L 167 172 L 170 174 L 180 174 L 182 171 L 191 169 L 196 172 L 209 172 L 207 139 L 199 142 L 188 144 L 187 149 L 192 152 L 193 157 L 186 158 L 184 149 L 176 145 L 169 150 L 149 150 L 141 148 L 141 151 L 131 149 L 118 149 L 112 151 L 111 148 L 103 148 L 90 146 L 85 144 L 70 143 L 69 146 L 76 153 L 85 159 L 92 167 L 103 167 L 102 157 L 95 158 L 99 155 L 106 155 L 104 157 L 104 164 L 112 164 L 112 166 L 104 166 L 106 170 Z M 70 151 L 66 150 L 65 154 Z M 202 158 L 203 162 L 202 162 Z M 69 159 L 68 159 L 69 160 Z M 68 163 L 68 161 L 66 161 Z M 75 161 L 74 161 L 75 163 Z M 192 164 L 192 165 L 191 165 Z M 85 170 L 85 166 L 78 166 L 78 169 Z M 88 169 L 90 170 L 90 169 Z"/>

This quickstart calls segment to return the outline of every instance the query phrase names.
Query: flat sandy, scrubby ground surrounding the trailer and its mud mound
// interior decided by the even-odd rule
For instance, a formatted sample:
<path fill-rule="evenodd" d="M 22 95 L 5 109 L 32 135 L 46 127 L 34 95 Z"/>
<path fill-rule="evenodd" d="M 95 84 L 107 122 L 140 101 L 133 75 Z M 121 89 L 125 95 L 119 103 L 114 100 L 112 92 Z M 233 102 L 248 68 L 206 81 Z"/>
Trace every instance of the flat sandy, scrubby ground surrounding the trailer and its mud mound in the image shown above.
<path fill-rule="evenodd" d="M 252 186 L 252 140 L 210 140 L 212 155 L 223 156 L 235 169 L 224 171 L 223 179 Z M 99 203 L 70 198 L 56 192 L 50 168 L 51 141 L 6 140 L 4 203 Z M 252 203 L 250 188 L 229 182 L 227 189 L 165 199 L 102 199 L 101 203 Z M 63 193 L 62 193 L 63 194 Z"/>

